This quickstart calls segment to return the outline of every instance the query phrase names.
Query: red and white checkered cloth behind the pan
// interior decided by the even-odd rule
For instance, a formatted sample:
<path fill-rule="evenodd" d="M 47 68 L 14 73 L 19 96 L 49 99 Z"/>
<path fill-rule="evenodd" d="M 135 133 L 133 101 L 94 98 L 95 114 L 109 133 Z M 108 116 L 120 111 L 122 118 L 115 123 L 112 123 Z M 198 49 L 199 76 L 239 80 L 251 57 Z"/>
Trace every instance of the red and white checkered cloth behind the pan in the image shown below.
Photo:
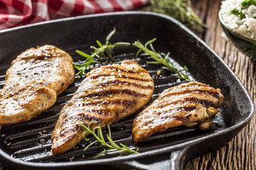
<path fill-rule="evenodd" d="M 149 0 L 0 0 L 0 30 L 52 18 L 127 11 Z"/>

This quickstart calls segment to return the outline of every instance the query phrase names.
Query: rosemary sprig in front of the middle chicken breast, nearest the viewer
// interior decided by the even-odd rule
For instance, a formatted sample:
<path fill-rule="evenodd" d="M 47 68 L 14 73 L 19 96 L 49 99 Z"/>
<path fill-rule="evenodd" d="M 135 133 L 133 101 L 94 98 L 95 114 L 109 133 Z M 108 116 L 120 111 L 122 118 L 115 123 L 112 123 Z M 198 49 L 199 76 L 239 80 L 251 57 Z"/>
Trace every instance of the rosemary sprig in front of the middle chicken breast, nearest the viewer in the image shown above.
<path fill-rule="evenodd" d="M 89 125 L 87 127 L 83 124 L 80 124 L 80 126 L 82 126 L 82 128 L 85 129 L 85 132 L 83 132 L 83 134 L 82 134 L 82 137 L 85 141 L 89 141 L 89 139 L 87 139 L 85 137 L 87 135 L 87 133 L 92 134 L 96 138 L 96 140 L 94 142 L 91 142 L 90 145 L 87 145 L 87 147 L 85 147 L 84 151 L 87 150 L 92 145 L 95 145 L 95 143 L 99 143 L 100 145 L 107 147 L 107 149 L 104 149 L 102 152 L 100 152 L 100 154 L 97 154 L 95 157 L 92 157 L 92 159 L 96 159 L 107 152 L 115 152 L 115 151 L 119 151 L 119 156 L 123 156 L 126 154 L 139 154 L 138 149 L 136 151 L 134 151 L 134 150 L 130 149 L 129 147 L 123 145 L 122 143 L 117 145 L 111 138 L 110 125 L 107 125 L 107 129 L 108 129 L 107 140 L 109 142 L 109 144 L 108 144 L 104 139 L 104 136 L 102 134 L 102 128 L 100 127 L 100 125 L 96 126 L 92 130 L 90 130 L 90 125 L 92 123 L 97 123 L 97 122 L 92 121 L 89 123 Z M 97 130 L 97 134 L 96 134 L 95 130 Z"/>

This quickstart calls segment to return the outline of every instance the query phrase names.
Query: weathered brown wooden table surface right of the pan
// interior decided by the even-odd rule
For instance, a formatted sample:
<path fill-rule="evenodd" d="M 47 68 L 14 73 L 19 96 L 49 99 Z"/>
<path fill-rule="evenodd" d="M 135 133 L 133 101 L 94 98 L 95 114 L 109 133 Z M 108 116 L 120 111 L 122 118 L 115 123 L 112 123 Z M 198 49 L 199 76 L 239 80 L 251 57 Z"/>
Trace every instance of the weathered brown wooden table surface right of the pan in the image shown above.
<path fill-rule="evenodd" d="M 208 26 L 207 29 L 193 29 L 217 54 L 223 58 L 235 72 L 245 89 L 255 101 L 255 64 L 223 36 L 223 30 L 218 20 L 218 11 L 221 0 L 193 0 L 193 9 L 201 20 Z M 225 147 L 217 152 L 206 154 L 191 160 L 187 169 L 256 169 L 256 138 L 255 116 L 238 135 Z"/>

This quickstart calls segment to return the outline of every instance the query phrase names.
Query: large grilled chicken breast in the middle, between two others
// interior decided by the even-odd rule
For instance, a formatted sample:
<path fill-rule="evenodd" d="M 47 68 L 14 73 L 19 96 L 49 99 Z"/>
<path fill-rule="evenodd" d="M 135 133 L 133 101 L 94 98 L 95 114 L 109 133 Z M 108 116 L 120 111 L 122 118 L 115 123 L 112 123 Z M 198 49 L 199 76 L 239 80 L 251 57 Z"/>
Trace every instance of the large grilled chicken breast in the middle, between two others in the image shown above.
<path fill-rule="evenodd" d="M 132 60 L 92 69 L 60 112 L 52 134 L 52 152 L 60 154 L 82 140 L 80 123 L 105 127 L 142 108 L 154 92 L 154 81 Z"/>

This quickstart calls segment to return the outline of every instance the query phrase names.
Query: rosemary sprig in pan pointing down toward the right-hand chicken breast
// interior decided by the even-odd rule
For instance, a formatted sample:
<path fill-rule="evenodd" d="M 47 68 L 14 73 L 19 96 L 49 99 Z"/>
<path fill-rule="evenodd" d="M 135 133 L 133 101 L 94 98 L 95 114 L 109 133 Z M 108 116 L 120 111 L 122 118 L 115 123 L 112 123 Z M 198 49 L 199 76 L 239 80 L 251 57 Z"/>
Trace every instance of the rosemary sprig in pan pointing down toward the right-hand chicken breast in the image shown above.
<path fill-rule="evenodd" d="M 171 72 L 174 72 L 175 74 L 178 74 L 176 76 L 178 79 L 191 81 L 191 79 L 189 79 L 189 77 L 188 77 L 188 68 L 186 66 L 184 66 L 183 69 L 177 69 L 176 67 L 174 67 L 174 64 L 172 64 L 169 61 L 170 52 L 168 52 L 167 55 L 162 56 L 159 52 L 156 52 L 156 50 L 154 50 L 152 43 L 155 40 L 156 40 L 156 38 L 149 40 L 148 42 L 145 43 L 145 45 L 143 45 L 142 42 L 139 42 L 139 40 L 135 41 L 132 45 L 139 48 L 139 50 L 137 52 L 137 57 L 143 56 L 143 55 L 149 55 L 154 60 L 156 60 L 156 62 L 147 62 L 148 64 L 164 64 L 164 67 L 162 67 L 162 68 L 167 69 Z M 147 46 L 149 46 L 150 49 Z M 142 51 L 144 53 L 142 53 Z"/>

